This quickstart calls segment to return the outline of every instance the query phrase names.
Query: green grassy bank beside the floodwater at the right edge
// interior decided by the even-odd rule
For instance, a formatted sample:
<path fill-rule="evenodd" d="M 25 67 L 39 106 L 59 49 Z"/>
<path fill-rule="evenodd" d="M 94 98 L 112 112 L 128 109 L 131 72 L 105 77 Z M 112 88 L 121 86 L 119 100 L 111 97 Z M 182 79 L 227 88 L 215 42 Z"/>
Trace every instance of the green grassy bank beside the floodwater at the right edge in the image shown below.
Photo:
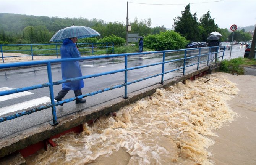
<path fill-rule="evenodd" d="M 244 69 L 243 67 L 251 67 L 256 66 L 256 60 L 255 59 L 248 59 L 248 58 L 233 58 L 230 60 L 223 60 L 220 62 L 220 72 L 226 72 L 226 73 L 236 73 L 243 75 Z"/>

